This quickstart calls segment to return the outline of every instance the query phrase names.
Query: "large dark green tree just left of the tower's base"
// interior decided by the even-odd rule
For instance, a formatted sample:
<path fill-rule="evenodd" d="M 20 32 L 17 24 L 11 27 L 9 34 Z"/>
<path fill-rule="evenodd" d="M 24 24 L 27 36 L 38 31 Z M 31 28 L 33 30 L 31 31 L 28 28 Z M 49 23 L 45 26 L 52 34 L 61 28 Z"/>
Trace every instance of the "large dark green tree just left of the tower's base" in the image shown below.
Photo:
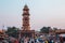
<path fill-rule="evenodd" d="M 16 27 L 8 27 L 6 34 L 13 38 L 18 38 L 18 28 Z"/>

